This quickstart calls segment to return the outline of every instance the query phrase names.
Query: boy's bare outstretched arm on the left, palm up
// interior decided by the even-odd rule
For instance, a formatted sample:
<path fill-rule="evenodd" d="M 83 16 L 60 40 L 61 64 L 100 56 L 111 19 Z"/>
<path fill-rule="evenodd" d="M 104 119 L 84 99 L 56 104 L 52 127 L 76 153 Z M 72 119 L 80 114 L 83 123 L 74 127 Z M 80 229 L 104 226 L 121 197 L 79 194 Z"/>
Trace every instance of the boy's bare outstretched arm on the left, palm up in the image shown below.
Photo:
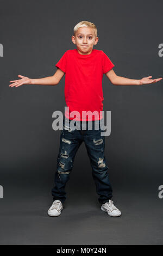
<path fill-rule="evenodd" d="M 21 77 L 19 80 L 13 80 L 9 87 L 18 87 L 22 86 L 23 84 L 39 84 L 43 86 L 55 86 L 57 85 L 61 78 L 64 76 L 64 72 L 61 69 L 57 69 L 55 74 L 53 76 L 43 77 L 39 79 L 31 79 L 27 76 L 21 76 L 18 75 L 18 77 Z"/>

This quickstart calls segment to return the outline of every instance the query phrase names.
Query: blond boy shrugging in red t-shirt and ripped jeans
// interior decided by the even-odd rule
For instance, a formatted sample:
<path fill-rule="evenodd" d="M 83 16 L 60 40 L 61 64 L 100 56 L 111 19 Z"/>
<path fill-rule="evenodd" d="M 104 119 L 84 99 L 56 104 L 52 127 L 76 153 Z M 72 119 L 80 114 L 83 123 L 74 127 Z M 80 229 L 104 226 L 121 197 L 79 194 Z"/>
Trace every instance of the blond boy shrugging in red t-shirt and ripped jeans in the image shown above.
<path fill-rule="evenodd" d="M 65 76 L 65 100 L 70 109 L 66 111 L 63 130 L 60 135 L 60 150 L 57 159 L 57 171 L 55 172 L 55 186 L 52 189 L 53 204 L 48 210 L 49 216 L 59 216 L 63 209 L 62 204 L 66 199 L 65 186 L 70 179 L 70 172 L 73 166 L 74 157 L 80 144 L 84 141 L 89 155 L 92 175 L 96 184 L 96 191 L 99 196 L 101 210 L 109 216 L 121 216 L 121 211 L 112 202 L 112 187 L 109 181 L 108 166 L 106 166 L 104 147 L 105 137 L 101 136 L 100 128 L 95 130 L 96 124 L 103 120 L 103 92 L 102 77 L 105 74 L 114 85 L 141 85 L 160 81 L 162 78 L 152 80 L 152 76 L 144 77 L 141 80 L 133 80 L 117 76 L 112 69 L 115 65 L 108 56 L 101 51 L 93 49 L 93 45 L 98 42 L 97 28 L 89 21 L 81 21 L 74 27 L 72 36 L 73 44 L 77 48 L 68 50 L 55 65 L 58 70 L 53 76 L 30 79 L 21 77 L 21 80 L 10 81 L 10 87 L 22 86 L 22 84 L 43 84 L 57 85 L 61 78 Z M 69 110 L 68 109 L 68 110 Z M 71 115 L 73 111 L 78 112 L 74 119 Z M 96 115 L 83 118 L 83 111 L 96 112 Z M 70 129 L 71 120 L 85 122 L 86 130 Z M 92 130 L 88 129 L 89 121 L 92 121 Z M 68 125 L 67 125 L 68 124 Z"/>

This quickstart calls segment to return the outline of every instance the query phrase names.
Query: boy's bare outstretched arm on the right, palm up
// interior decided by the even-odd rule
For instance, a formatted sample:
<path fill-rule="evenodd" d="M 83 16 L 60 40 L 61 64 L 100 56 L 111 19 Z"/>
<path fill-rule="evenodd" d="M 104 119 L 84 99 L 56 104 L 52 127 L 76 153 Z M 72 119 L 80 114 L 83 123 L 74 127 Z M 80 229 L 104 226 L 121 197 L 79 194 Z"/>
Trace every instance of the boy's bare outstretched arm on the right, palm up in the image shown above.
<path fill-rule="evenodd" d="M 162 77 L 157 79 L 151 79 L 152 76 L 143 77 L 142 79 L 129 79 L 122 76 L 117 76 L 113 69 L 109 70 L 105 74 L 110 82 L 114 84 L 115 86 L 140 86 L 142 84 L 149 84 L 149 83 L 156 83 L 162 79 Z"/>

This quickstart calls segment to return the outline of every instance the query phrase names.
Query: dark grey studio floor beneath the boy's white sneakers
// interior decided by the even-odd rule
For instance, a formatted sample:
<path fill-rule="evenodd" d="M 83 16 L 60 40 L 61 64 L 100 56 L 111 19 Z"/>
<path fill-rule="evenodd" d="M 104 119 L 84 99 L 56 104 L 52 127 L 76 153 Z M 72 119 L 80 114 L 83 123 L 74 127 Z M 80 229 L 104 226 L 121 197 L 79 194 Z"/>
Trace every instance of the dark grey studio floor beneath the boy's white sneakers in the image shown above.
<path fill-rule="evenodd" d="M 69 190 L 69 187 L 68 187 Z M 121 217 L 100 210 L 95 191 L 68 191 L 59 217 L 49 217 L 47 188 L 13 188 L 0 200 L 1 245 L 161 245 L 163 199 L 149 190 L 121 191 L 114 200 Z M 21 191 L 21 193 L 20 193 Z M 88 192 L 88 193 L 87 193 Z"/>

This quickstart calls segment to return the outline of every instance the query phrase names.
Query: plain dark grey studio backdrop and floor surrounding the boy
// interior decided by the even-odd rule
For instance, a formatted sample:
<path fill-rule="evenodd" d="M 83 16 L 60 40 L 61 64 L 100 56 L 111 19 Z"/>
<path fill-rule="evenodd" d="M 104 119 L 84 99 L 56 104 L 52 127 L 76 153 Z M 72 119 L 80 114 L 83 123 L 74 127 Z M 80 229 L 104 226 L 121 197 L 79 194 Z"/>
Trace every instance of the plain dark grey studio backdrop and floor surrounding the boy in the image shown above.
<path fill-rule="evenodd" d="M 113 86 L 103 77 L 104 111 L 111 111 L 105 157 L 122 216 L 99 208 L 84 143 L 78 150 L 60 217 L 48 217 L 60 131 L 52 113 L 64 113 L 64 81 L 58 86 L 10 88 L 17 75 L 53 75 L 69 49 L 73 27 L 97 26 L 103 50 L 118 76 L 162 77 L 162 1 L 0 1 L 1 175 L 0 243 L 51 245 L 160 245 L 162 203 L 162 81 Z"/>

